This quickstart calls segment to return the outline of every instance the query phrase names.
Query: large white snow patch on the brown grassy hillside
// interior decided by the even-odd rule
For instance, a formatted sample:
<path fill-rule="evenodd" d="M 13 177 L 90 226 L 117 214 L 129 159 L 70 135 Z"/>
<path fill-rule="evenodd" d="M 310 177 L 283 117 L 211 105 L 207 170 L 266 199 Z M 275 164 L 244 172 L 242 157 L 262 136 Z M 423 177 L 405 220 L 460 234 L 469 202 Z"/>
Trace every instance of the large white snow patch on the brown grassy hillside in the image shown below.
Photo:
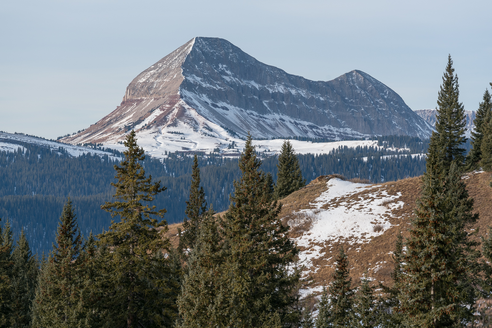
<path fill-rule="evenodd" d="M 310 203 L 313 208 L 301 210 L 316 217 L 312 227 L 295 239 L 298 246 L 305 247 L 299 254 L 300 264 L 307 268 L 304 274 L 315 273 L 321 268 L 313 267 L 314 259 L 330 261 L 336 255 L 336 252 L 333 255 L 326 253 L 332 253 L 329 249 L 333 243 L 343 241 L 358 250 L 362 243 L 382 235 L 392 226 L 388 220 L 394 216 L 391 209 L 404 205 L 398 201 L 400 192 L 389 195 L 382 185 L 335 178 L 327 182 L 327 187 L 327 191 Z M 380 226 L 380 231 L 374 231 L 376 225 Z M 327 265 L 333 265 L 333 262 Z M 306 293 L 318 291 L 320 287 L 316 288 L 308 289 Z"/>

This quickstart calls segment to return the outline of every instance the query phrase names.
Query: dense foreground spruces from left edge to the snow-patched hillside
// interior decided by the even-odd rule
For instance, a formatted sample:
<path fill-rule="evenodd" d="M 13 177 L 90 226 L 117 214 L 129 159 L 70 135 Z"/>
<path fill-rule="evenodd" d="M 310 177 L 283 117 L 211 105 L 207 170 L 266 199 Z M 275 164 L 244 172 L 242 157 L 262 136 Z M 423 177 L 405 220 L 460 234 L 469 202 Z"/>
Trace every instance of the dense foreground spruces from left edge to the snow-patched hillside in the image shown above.
<path fill-rule="evenodd" d="M 13 248 L 7 221 L 0 231 L 0 327 L 246 328 L 298 322 L 299 273 L 290 272 L 297 248 L 277 218 L 281 205 L 273 200 L 273 183 L 260 170 L 251 141 L 222 217 L 206 209 L 194 157 L 189 223 L 177 249 L 162 237 L 166 209 L 153 205 L 166 188 L 146 175 L 134 131 L 124 143 L 123 161 L 114 165 L 113 202 L 101 206 L 115 218 L 107 230 L 85 239 L 68 198 L 56 243 L 39 261 L 23 233 Z"/>

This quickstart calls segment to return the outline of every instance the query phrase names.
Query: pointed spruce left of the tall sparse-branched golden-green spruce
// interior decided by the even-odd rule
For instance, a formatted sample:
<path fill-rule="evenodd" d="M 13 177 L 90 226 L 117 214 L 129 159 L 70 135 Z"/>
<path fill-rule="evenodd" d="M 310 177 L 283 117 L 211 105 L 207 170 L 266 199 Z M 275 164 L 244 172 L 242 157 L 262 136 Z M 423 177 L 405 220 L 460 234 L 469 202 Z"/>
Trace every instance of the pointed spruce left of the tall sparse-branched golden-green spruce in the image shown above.
<path fill-rule="evenodd" d="M 85 327 L 82 305 L 82 236 L 68 198 L 60 216 L 57 245 L 43 263 L 32 306 L 32 327 Z"/>

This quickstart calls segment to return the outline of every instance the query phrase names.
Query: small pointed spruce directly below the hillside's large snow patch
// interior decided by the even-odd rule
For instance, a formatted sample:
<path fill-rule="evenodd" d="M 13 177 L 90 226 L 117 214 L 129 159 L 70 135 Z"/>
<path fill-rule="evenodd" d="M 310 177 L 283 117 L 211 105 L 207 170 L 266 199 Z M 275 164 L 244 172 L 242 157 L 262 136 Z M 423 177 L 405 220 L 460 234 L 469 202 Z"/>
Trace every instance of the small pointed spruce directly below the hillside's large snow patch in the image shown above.
<path fill-rule="evenodd" d="M 340 247 L 336 263 L 332 283 L 328 286 L 328 302 L 323 315 L 320 308 L 316 327 L 352 327 L 353 324 L 354 291 L 351 288 L 352 278 L 348 277 L 348 259 L 343 247 Z"/>

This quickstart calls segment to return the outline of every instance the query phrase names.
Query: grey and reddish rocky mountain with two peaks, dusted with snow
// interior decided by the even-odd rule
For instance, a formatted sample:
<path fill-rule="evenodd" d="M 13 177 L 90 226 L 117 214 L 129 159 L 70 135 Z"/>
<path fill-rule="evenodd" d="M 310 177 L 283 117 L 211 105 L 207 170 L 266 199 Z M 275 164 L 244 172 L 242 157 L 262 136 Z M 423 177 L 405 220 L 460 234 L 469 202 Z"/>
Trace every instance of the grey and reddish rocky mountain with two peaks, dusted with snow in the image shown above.
<path fill-rule="evenodd" d="M 194 131 L 216 124 L 263 138 L 431 134 L 395 91 L 362 71 L 311 81 L 224 39 L 196 37 L 133 79 L 115 111 L 63 141 L 106 142 L 132 128 L 161 133 L 183 123 Z"/>

